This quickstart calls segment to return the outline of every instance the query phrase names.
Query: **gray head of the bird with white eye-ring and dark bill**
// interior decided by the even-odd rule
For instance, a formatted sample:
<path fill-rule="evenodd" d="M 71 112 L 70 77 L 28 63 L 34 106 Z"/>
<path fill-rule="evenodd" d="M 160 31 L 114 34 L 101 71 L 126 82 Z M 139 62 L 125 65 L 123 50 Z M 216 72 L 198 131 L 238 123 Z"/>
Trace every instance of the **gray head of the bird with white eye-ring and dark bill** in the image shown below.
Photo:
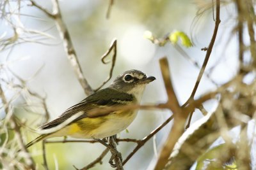
<path fill-rule="evenodd" d="M 140 100 L 146 85 L 154 80 L 156 80 L 154 76 L 147 76 L 142 71 L 131 69 L 117 76 L 109 87 L 132 94 Z"/>

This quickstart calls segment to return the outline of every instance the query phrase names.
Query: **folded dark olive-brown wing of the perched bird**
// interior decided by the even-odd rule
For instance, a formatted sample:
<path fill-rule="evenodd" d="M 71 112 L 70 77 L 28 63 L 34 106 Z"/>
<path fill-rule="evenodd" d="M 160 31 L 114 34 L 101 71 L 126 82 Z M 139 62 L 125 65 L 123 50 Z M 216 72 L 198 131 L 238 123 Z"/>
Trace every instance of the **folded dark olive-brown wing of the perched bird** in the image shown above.
<path fill-rule="evenodd" d="M 109 106 L 116 106 L 117 104 L 124 104 L 124 103 L 132 103 L 134 101 L 134 97 L 131 94 L 127 94 L 124 92 L 118 92 L 115 89 L 102 89 L 91 96 L 86 97 L 83 101 L 77 103 L 76 105 L 68 108 L 64 113 L 60 115 L 60 117 L 48 122 L 44 125 L 41 125 L 40 129 L 50 129 L 52 127 L 56 127 L 61 123 L 65 122 L 68 118 L 72 117 L 76 113 L 83 111 L 83 115 L 79 116 L 72 122 L 76 122 L 85 117 L 101 117 L 104 115 L 108 115 L 108 112 L 100 111 L 95 112 L 93 110 L 97 108 L 107 108 Z M 70 124 L 72 124 L 72 122 Z"/>

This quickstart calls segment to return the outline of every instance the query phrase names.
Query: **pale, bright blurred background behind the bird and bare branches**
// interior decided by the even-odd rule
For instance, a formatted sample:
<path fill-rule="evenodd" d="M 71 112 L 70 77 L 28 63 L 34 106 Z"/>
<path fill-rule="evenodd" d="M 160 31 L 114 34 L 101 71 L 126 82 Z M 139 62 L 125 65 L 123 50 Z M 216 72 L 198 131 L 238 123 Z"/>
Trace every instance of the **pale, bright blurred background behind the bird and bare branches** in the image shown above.
<path fill-rule="evenodd" d="M 6 45 L 6 48 L 2 49 L 0 61 L 2 66 L 8 67 L 8 69 L 2 69 L 1 78 L 13 80 L 10 73 L 12 71 L 20 78 L 28 80 L 26 85 L 29 89 L 40 96 L 46 96 L 47 109 L 50 113 L 50 120 L 52 120 L 86 96 L 70 66 L 54 20 L 51 20 L 37 8 L 29 6 L 29 1 L 20 2 L 21 8 L 17 8 L 16 2 L 9 2 L 13 13 L 20 10 L 22 14 L 20 16 L 12 15 L 10 20 L 19 25 L 19 29 L 16 31 L 23 39 L 19 39 L 15 45 Z M 51 11 L 51 1 L 38 1 L 38 3 Z M 108 50 L 111 41 L 116 38 L 117 59 L 113 78 L 128 69 L 139 69 L 150 76 L 155 76 L 157 80 L 147 86 L 142 103 L 163 103 L 167 97 L 158 60 L 167 56 L 179 102 L 180 104 L 186 102 L 195 85 L 199 69 L 177 51 L 171 43 L 157 46 L 143 38 L 143 34 L 148 30 L 156 37 L 163 38 L 175 30 L 186 32 L 193 41 L 193 47 L 182 47 L 182 49 L 201 66 L 206 53 L 201 48 L 209 45 L 214 29 L 212 1 L 118 0 L 111 7 L 110 17 L 107 19 L 108 6 L 109 1 L 104 0 L 60 1 L 63 20 L 70 32 L 84 76 L 93 89 L 99 87 L 108 76 L 110 65 L 102 64 L 100 57 Z M 235 12 L 236 8 L 232 3 L 223 1 L 221 4 L 220 32 L 218 32 L 206 71 L 211 78 L 203 77 L 196 96 L 216 89 L 218 85 L 227 82 L 236 74 L 238 45 L 236 37 L 232 34 L 236 24 L 234 22 Z M 13 38 L 12 25 L 8 24 L 6 20 L 1 20 L 0 27 L 1 39 Z M 31 32 L 24 31 L 25 28 Z M 35 34 L 32 31 L 45 32 L 45 35 Z M 108 87 L 109 83 L 104 87 Z M 19 96 L 8 86 L 3 88 L 9 99 L 16 96 L 13 103 L 15 103 L 17 117 L 26 120 L 27 125 L 32 129 L 38 127 L 42 123 L 42 116 L 34 113 L 44 114 L 42 106 L 31 99 L 30 102 L 33 106 L 31 110 L 33 111 L 28 111 L 23 108 L 24 96 Z M 212 107 L 212 103 L 205 104 L 208 111 Z M 118 136 L 120 138 L 142 139 L 171 114 L 170 111 L 166 110 L 140 111 L 136 120 L 129 126 L 129 132 L 121 132 Z M 2 109 L 0 117 L 4 118 L 5 115 L 6 113 Z M 196 112 L 192 122 L 200 117 L 202 117 L 201 113 Z M 161 142 L 166 139 L 171 125 L 172 123 L 168 124 L 157 133 L 154 138 L 155 141 L 150 139 L 125 164 L 124 168 L 147 169 L 148 164 L 156 158 L 157 152 L 161 148 Z M 31 131 L 24 133 L 27 135 L 26 141 L 37 136 Z M 154 143 L 156 143 L 155 152 Z M 41 146 L 41 144 L 37 144 L 29 148 L 36 160 L 38 169 L 44 169 Z M 133 143 L 120 143 L 118 150 L 122 152 L 122 156 L 125 158 L 134 147 Z M 73 165 L 81 168 L 96 159 L 102 150 L 104 150 L 104 146 L 100 144 L 47 144 L 47 162 L 50 169 L 56 167 L 73 169 Z M 110 156 L 108 153 L 103 164 L 97 164 L 93 169 L 113 169 L 108 164 Z"/>

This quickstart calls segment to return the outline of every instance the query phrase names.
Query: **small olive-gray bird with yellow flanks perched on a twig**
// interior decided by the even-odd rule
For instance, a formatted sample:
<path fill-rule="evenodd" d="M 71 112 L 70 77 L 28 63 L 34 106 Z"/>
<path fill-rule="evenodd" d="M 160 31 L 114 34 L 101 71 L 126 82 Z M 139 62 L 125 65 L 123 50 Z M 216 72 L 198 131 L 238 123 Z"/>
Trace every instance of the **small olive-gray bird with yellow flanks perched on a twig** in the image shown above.
<path fill-rule="evenodd" d="M 81 113 L 58 131 L 40 134 L 36 139 L 29 142 L 26 148 L 48 138 L 70 136 L 79 139 L 102 139 L 124 131 L 136 118 L 138 110 L 120 109 L 101 112 L 95 110 L 140 104 L 146 85 L 154 80 L 156 80 L 154 76 L 147 76 L 136 69 L 125 71 L 117 76 L 106 89 L 98 90 L 83 101 L 68 108 L 58 118 L 38 127 L 40 131 L 51 130 L 63 124 L 68 118 Z"/>

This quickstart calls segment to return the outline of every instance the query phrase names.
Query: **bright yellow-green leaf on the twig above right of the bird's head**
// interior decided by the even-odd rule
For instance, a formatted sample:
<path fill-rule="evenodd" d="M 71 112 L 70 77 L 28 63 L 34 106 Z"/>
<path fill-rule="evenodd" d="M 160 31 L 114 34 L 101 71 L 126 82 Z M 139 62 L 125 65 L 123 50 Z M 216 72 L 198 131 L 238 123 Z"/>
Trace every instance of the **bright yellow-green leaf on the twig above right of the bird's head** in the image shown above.
<path fill-rule="evenodd" d="M 169 40 L 175 45 L 180 39 L 181 44 L 186 47 L 193 46 L 189 37 L 182 31 L 174 31 L 170 33 Z"/>

